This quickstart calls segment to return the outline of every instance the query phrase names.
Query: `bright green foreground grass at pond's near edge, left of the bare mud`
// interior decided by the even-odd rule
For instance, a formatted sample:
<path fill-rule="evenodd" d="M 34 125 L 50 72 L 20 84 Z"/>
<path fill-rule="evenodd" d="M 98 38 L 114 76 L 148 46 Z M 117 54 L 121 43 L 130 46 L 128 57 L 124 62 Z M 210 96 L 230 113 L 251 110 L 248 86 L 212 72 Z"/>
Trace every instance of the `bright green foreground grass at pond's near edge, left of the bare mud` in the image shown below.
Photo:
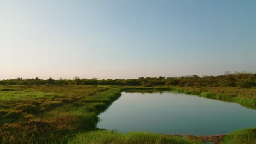
<path fill-rule="evenodd" d="M 72 139 L 68 140 L 69 144 L 90 143 L 123 143 L 123 144 L 160 144 L 160 143 L 201 143 L 196 140 L 187 140 L 178 136 L 167 136 L 146 132 L 131 132 L 127 134 L 115 133 L 113 131 L 91 131 L 88 133 L 78 133 Z"/>

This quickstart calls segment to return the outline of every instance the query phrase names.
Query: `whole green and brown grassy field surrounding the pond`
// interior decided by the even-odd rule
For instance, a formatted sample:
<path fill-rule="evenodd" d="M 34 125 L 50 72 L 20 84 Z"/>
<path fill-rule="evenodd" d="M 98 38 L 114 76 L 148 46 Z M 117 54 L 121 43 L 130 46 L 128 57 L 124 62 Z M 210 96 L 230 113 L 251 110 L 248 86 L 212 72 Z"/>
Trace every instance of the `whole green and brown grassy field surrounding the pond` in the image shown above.
<path fill-rule="evenodd" d="M 121 91 L 129 90 L 178 91 L 256 109 L 256 88 L 3 85 L 0 143 L 201 143 L 179 136 L 97 129 L 97 115 L 118 99 Z M 256 143 L 255 135 L 255 128 L 235 131 L 222 142 Z"/>

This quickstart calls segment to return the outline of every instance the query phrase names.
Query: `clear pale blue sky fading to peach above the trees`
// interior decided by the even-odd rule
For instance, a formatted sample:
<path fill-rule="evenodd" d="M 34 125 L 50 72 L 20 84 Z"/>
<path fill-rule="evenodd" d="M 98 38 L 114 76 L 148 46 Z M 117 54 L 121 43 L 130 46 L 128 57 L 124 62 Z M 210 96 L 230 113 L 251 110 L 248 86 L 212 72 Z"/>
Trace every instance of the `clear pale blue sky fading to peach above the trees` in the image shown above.
<path fill-rule="evenodd" d="M 256 1 L 0 0 L 0 79 L 256 72 Z"/>

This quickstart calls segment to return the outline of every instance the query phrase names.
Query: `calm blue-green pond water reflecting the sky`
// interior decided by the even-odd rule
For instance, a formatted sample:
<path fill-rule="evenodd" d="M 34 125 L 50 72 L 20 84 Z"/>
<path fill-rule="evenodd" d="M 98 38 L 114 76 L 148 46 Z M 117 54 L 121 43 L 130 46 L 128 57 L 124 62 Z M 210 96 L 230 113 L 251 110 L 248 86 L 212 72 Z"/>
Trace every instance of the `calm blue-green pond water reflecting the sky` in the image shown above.
<path fill-rule="evenodd" d="M 256 127 L 256 110 L 176 92 L 127 93 L 100 114 L 98 128 L 217 135 Z"/>

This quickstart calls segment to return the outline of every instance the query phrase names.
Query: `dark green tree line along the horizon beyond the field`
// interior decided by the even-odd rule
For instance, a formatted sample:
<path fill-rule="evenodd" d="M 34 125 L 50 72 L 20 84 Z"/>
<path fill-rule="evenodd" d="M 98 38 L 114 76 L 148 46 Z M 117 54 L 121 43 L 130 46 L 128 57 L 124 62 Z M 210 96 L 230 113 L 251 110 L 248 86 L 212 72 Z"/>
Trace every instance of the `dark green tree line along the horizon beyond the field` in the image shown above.
<path fill-rule="evenodd" d="M 138 79 L 2 79 L 0 85 L 120 85 L 180 87 L 256 87 L 256 73 L 225 73 L 219 76 L 139 77 Z"/>

